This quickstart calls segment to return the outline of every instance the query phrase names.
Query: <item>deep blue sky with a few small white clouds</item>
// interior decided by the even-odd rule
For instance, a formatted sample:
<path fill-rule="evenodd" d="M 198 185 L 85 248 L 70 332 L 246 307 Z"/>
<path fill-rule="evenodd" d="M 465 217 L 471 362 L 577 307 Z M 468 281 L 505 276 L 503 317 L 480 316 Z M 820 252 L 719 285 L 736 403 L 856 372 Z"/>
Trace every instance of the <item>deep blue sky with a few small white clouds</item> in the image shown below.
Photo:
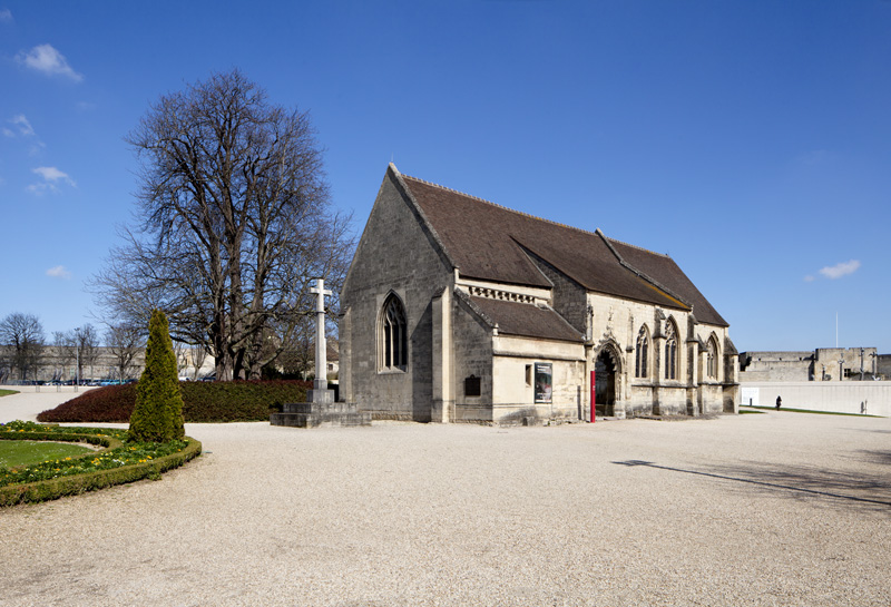
<path fill-rule="evenodd" d="M 392 159 L 670 254 L 741 351 L 833 346 L 838 314 L 891 352 L 887 0 L 0 0 L 0 317 L 98 325 L 124 137 L 235 67 L 311 112 L 356 232 Z"/>

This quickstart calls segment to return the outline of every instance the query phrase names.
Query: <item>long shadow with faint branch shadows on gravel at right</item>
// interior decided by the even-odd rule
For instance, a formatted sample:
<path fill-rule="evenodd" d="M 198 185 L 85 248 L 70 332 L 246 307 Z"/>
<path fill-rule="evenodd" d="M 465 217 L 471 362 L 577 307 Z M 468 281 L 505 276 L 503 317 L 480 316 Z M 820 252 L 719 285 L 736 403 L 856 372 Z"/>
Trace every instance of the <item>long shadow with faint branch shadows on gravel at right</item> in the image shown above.
<path fill-rule="evenodd" d="M 891 463 L 891 453 L 868 452 Z M 723 466 L 712 470 L 686 470 L 652 461 L 614 461 L 620 466 L 645 466 L 668 472 L 682 472 L 722 481 L 745 483 L 767 493 L 781 493 L 796 500 L 820 500 L 831 506 L 856 506 L 878 512 L 891 512 L 891 481 L 888 477 L 850 474 L 806 466 Z"/>

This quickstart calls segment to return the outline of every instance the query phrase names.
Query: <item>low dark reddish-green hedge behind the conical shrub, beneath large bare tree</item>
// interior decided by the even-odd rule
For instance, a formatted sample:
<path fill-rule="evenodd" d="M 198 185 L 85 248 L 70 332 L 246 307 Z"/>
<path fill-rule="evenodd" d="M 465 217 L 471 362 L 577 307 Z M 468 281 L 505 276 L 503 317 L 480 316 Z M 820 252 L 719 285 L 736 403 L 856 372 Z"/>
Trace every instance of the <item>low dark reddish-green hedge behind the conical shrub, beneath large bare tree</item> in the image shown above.
<path fill-rule="evenodd" d="M 183 417 L 187 422 L 268 421 L 282 404 L 303 402 L 305 381 L 180 382 Z M 43 411 L 41 422 L 127 423 L 136 404 L 134 384 L 90 390 Z"/>

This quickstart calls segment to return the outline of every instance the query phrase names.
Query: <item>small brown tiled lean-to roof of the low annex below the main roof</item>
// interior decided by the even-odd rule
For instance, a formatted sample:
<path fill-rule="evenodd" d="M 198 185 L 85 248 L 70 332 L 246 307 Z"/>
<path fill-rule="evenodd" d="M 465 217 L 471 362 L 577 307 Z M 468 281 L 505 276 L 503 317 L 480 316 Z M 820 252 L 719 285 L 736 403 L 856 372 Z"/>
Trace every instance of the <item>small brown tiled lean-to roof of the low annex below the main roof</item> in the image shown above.
<path fill-rule="evenodd" d="M 565 342 L 582 341 L 581 334 L 551 309 L 487 297 L 467 298 L 490 321 L 498 324 L 499 334 Z"/>

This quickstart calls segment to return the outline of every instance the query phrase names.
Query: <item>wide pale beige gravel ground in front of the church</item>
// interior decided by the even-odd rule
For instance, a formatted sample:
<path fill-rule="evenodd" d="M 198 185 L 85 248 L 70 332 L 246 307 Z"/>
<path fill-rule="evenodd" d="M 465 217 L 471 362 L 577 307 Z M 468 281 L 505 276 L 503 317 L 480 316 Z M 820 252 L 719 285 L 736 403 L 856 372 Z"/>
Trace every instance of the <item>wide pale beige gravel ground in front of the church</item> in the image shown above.
<path fill-rule="evenodd" d="M 186 430 L 160 481 L 0 510 L 0 605 L 891 605 L 889 419 Z"/>

